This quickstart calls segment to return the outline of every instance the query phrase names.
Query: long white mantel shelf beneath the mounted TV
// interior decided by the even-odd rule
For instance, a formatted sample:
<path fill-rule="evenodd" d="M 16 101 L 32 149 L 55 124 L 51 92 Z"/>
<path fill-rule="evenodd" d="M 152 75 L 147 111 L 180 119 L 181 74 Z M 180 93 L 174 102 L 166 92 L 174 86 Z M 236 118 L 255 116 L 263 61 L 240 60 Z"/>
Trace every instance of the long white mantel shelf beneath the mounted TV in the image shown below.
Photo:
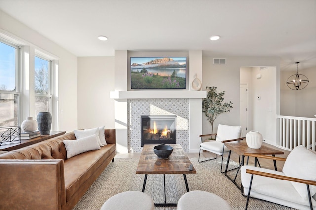
<path fill-rule="evenodd" d="M 206 98 L 207 91 L 111 91 L 112 99 Z"/>

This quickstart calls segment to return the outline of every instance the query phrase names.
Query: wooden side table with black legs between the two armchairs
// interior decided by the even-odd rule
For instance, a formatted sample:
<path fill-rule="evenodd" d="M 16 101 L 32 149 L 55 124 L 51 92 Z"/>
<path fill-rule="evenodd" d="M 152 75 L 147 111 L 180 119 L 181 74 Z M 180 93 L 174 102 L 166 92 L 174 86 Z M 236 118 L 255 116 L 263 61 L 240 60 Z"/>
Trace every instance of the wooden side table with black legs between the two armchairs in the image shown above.
<path fill-rule="evenodd" d="M 236 178 L 237 178 L 237 174 L 240 170 L 240 167 L 244 165 L 244 158 L 245 158 L 245 154 L 262 154 L 262 155 L 272 155 L 272 156 L 275 156 L 276 154 L 284 154 L 284 152 L 280 151 L 280 150 L 276 150 L 276 149 L 273 149 L 271 147 L 268 147 L 268 146 L 265 146 L 264 144 L 259 148 L 259 149 L 252 149 L 252 148 L 249 148 L 247 146 L 247 143 L 246 142 L 237 142 L 237 143 L 224 143 L 225 146 L 227 147 L 227 149 L 229 149 L 229 153 L 228 153 L 228 157 L 227 157 L 227 163 L 226 163 L 226 169 L 225 169 L 225 176 L 228 177 L 228 179 L 230 179 L 241 191 L 242 191 L 242 185 L 239 186 L 237 183 L 236 183 Z M 241 162 L 239 164 L 239 167 L 237 168 L 237 172 L 236 172 L 236 175 L 233 178 L 231 178 L 230 176 L 228 176 L 227 174 L 227 169 L 228 169 L 228 164 L 229 164 L 229 159 L 230 159 L 230 156 L 231 156 L 231 152 L 235 152 L 237 153 L 239 156 L 241 156 Z M 257 163 L 259 164 L 259 161 L 257 158 L 255 158 L 255 166 L 257 166 Z M 273 160 L 273 163 L 274 163 L 274 167 L 275 167 L 275 170 L 277 171 L 277 168 L 276 168 L 276 160 Z M 248 162 L 247 162 L 248 164 Z M 260 164 L 259 164 L 260 166 Z"/>

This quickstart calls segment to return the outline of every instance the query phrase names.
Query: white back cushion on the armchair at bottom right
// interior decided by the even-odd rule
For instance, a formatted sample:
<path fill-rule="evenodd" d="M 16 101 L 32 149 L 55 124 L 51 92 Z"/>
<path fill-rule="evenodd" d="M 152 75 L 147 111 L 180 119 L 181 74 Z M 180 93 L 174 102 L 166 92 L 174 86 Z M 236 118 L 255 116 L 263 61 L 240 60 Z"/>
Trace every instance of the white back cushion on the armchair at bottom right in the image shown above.
<path fill-rule="evenodd" d="M 286 176 L 316 181 L 316 154 L 302 145 L 295 147 L 286 158 L 283 172 Z M 296 191 L 307 199 L 306 184 L 291 182 Z M 316 186 L 309 185 L 311 196 L 316 193 Z"/>

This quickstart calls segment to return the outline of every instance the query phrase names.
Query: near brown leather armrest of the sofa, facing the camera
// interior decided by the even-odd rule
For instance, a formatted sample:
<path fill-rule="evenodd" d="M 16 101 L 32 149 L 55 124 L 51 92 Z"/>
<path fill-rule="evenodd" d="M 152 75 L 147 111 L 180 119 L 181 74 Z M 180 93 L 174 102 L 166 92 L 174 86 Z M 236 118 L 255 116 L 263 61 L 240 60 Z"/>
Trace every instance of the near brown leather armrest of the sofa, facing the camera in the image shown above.
<path fill-rule="evenodd" d="M 61 210 L 64 160 L 0 159 L 0 209 Z"/>

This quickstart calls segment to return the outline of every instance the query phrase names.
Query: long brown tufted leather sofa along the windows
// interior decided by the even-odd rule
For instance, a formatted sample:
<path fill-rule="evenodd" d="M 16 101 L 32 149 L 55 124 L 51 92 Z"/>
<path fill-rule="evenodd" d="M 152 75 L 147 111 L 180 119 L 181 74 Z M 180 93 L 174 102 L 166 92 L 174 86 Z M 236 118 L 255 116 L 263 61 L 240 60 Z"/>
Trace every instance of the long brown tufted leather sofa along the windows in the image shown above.
<path fill-rule="evenodd" d="M 107 145 L 67 159 L 63 140 L 74 132 L 0 154 L 0 210 L 71 210 L 116 155 L 114 129 Z"/>

